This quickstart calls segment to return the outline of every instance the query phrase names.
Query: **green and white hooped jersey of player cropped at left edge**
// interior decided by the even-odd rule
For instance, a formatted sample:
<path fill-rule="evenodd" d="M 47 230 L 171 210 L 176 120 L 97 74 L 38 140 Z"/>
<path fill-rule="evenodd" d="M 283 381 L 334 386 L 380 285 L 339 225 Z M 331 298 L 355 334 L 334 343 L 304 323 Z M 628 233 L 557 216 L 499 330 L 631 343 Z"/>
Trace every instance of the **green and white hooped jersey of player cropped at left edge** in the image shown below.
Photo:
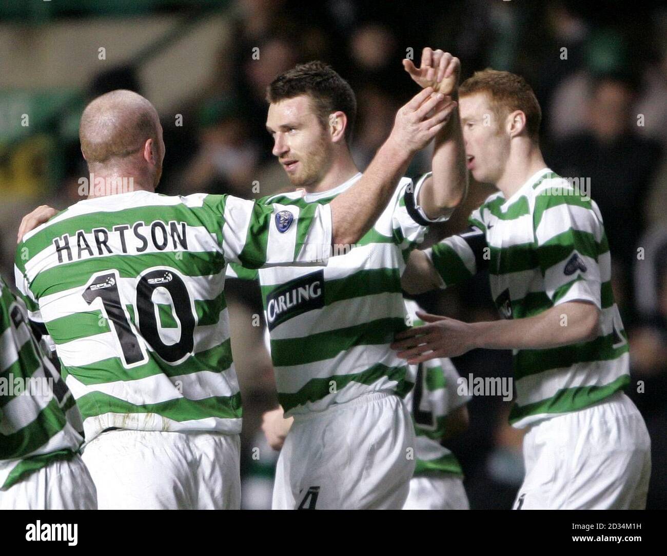
<path fill-rule="evenodd" d="M 0 491 L 79 451 L 83 438 L 68 413 L 76 413 L 71 393 L 31 333 L 25 305 L 0 279 Z"/>

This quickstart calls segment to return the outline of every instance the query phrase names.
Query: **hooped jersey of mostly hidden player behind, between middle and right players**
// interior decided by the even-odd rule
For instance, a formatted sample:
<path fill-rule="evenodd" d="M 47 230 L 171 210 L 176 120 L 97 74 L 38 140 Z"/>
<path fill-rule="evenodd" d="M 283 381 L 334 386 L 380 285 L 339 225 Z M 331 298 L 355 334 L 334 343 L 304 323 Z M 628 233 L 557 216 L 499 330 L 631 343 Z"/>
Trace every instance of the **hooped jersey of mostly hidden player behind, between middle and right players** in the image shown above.
<path fill-rule="evenodd" d="M 406 310 L 413 326 L 422 326 L 417 318 L 420 308 L 415 301 L 406 299 Z M 470 401 L 468 385 L 458 384 L 459 373 L 451 359 L 430 359 L 419 365 L 410 365 L 414 388 L 406 395 L 405 403 L 415 425 L 417 460 L 415 476 L 440 471 L 463 475 L 456 456 L 441 442 L 446 433 L 447 415 Z"/>

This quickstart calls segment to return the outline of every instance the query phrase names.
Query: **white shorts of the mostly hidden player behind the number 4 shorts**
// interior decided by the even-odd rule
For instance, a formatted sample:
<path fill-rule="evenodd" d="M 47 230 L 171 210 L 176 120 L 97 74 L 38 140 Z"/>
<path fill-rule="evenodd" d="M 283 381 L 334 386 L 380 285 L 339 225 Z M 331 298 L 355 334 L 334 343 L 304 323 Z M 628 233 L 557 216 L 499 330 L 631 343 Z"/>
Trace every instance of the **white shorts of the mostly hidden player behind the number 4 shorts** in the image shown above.
<path fill-rule="evenodd" d="M 470 505 L 463 479 L 439 473 L 412 477 L 403 509 L 470 509 Z"/>

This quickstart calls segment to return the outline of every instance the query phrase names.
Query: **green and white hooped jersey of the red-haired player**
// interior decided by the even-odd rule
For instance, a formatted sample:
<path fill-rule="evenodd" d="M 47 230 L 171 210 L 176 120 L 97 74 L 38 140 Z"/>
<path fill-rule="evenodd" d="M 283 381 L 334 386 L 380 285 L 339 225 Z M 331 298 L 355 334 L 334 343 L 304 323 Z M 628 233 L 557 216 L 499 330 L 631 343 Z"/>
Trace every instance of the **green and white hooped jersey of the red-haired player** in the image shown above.
<path fill-rule="evenodd" d="M 488 197 L 469 223 L 466 233 L 426 250 L 444 286 L 488 268 L 504 318 L 532 317 L 576 300 L 601 310 L 600 334 L 592 341 L 514 351 L 510 423 L 526 427 L 577 411 L 628 385 L 628 337 L 614 302 L 609 246 L 596 203 L 545 168 L 510 199 L 500 192 Z"/>

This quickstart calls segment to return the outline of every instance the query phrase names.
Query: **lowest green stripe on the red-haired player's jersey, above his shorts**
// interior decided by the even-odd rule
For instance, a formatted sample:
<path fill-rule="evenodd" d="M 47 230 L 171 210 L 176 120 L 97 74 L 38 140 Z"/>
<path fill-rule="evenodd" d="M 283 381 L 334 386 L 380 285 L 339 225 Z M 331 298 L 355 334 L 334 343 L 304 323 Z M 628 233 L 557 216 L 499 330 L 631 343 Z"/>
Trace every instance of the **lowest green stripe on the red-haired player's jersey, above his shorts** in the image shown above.
<path fill-rule="evenodd" d="M 510 423 L 516 423 L 520 419 L 524 419 L 530 415 L 578 411 L 610 397 L 628 384 L 630 384 L 630 375 L 622 375 L 604 386 L 566 388 L 559 390 L 556 395 L 542 401 L 529 403 L 528 405 L 518 405 L 515 403 L 512 406 L 512 411 L 510 411 Z"/>

